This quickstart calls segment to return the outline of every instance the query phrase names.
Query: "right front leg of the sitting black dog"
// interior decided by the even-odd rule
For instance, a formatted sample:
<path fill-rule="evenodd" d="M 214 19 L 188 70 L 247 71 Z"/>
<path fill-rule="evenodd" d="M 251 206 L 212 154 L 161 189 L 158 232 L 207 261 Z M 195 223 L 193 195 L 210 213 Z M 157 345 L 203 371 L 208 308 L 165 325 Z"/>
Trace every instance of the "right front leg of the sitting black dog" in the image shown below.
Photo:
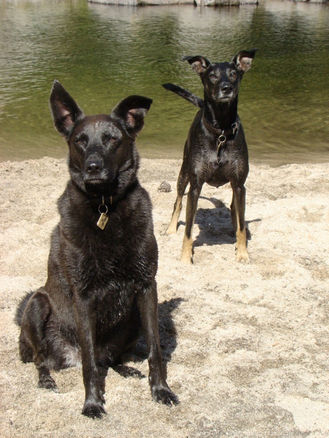
<path fill-rule="evenodd" d="M 142 326 L 146 337 L 149 353 L 149 382 L 153 400 L 165 405 L 177 404 L 178 398 L 171 391 L 165 381 L 165 370 L 162 361 L 159 323 L 158 323 L 158 295 L 157 284 L 141 291 L 137 296 L 137 303 L 141 313 Z"/>

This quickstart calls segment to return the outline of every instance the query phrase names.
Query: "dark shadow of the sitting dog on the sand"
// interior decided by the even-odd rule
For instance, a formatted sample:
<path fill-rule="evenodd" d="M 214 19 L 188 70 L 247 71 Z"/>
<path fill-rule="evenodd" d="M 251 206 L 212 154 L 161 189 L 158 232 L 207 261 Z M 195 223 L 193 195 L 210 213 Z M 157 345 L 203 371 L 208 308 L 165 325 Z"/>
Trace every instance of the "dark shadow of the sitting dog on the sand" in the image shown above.
<path fill-rule="evenodd" d="M 158 305 L 159 313 L 159 336 L 161 352 L 163 357 L 163 363 L 165 368 L 166 377 L 166 365 L 171 360 L 171 355 L 177 346 L 177 333 L 175 324 L 172 319 L 172 312 L 178 308 L 183 298 L 171 298 L 168 301 L 165 300 Z M 146 345 L 145 336 L 142 335 L 137 342 L 136 346 L 131 352 L 125 353 L 121 357 L 121 363 L 112 367 L 123 377 L 146 377 L 136 368 L 126 365 L 127 362 L 143 362 L 148 358 L 148 349 Z"/>

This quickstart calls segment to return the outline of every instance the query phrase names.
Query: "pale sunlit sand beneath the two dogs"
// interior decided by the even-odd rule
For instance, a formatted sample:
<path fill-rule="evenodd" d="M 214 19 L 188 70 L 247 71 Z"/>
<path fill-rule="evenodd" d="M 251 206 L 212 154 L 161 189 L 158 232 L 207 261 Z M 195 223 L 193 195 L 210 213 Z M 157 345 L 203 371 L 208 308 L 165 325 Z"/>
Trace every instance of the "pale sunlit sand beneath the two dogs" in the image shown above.
<path fill-rule="evenodd" d="M 231 189 L 204 185 L 194 226 L 194 265 L 166 236 L 180 160 L 142 160 L 159 245 L 160 333 L 167 382 L 180 405 L 152 401 L 148 380 L 110 370 L 101 420 L 81 415 L 81 369 L 37 388 L 19 360 L 15 307 L 46 280 L 65 160 L 0 163 L 0 437 L 329 437 L 329 163 L 251 165 L 248 249 L 235 262 Z M 161 182 L 172 191 L 158 192 Z M 127 364 L 148 374 L 145 341 Z"/>

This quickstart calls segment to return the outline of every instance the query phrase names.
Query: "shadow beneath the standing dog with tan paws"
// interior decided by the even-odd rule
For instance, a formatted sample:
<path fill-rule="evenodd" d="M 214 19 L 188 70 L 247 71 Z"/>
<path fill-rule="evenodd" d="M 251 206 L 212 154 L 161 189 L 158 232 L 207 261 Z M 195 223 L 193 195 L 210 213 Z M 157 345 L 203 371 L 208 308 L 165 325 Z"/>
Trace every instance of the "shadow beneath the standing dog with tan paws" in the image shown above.
<path fill-rule="evenodd" d="M 197 209 L 194 223 L 199 226 L 200 231 L 195 237 L 193 246 L 202 246 L 204 244 L 208 246 L 223 245 L 236 242 L 230 209 L 220 199 L 214 197 L 207 198 L 205 196 L 200 196 L 199 198 L 210 201 L 214 208 Z M 246 221 L 247 240 L 252 239 L 248 224 L 259 221 L 261 219 Z M 179 221 L 179 225 L 185 225 L 185 223 Z"/>

